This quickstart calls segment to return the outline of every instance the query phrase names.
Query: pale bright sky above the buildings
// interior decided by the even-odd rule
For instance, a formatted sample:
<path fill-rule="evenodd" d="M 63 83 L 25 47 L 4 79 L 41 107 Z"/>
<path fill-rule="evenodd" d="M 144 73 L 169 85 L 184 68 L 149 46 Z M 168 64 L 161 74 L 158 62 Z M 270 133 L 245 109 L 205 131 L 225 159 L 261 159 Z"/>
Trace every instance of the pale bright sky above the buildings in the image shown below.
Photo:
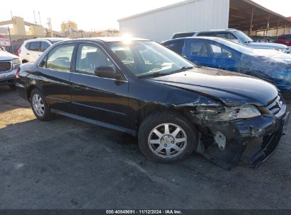
<path fill-rule="evenodd" d="M 52 28 L 60 30 L 62 21 L 72 20 L 83 30 L 103 30 L 117 28 L 119 18 L 136 13 L 149 11 L 154 8 L 180 2 L 181 0 L 2 0 L 0 3 L 0 21 L 8 20 L 13 16 L 21 16 L 25 21 L 34 22 L 33 11 L 37 21 L 38 11 L 42 25 L 47 25 L 47 17 L 52 20 Z M 290 0 L 254 0 L 266 8 L 291 16 Z"/>

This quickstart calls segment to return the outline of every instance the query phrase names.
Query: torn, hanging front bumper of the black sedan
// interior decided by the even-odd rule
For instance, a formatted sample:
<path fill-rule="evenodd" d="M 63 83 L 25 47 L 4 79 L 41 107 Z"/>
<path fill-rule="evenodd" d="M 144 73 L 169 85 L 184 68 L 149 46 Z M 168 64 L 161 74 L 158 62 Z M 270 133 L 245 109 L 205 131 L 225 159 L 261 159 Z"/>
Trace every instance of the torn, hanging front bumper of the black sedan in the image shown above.
<path fill-rule="evenodd" d="M 256 168 L 278 148 L 289 119 L 286 105 L 277 115 L 260 115 L 229 122 L 200 124 L 200 142 L 196 151 L 210 161 L 231 169 L 241 158 L 252 139 L 261 138 L 261 147 L 252 153 L 249 166 Z"/>

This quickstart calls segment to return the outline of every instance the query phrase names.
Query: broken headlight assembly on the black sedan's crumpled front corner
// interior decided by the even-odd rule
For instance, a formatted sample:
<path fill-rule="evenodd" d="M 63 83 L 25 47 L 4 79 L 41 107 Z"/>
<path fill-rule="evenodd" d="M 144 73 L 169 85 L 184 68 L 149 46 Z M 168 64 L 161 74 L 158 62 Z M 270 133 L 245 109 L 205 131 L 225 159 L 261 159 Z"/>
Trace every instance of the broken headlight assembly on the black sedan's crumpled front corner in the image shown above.
<path fill-rule="evenodd" d="M 242 105 L 234 108 L 211 108 L 198 106 L 196 108 L 195 115 L 203 120 L 226 122 L 230 120 L 257 117 L 261 115 L 261 112 L 253 105 Z"/>

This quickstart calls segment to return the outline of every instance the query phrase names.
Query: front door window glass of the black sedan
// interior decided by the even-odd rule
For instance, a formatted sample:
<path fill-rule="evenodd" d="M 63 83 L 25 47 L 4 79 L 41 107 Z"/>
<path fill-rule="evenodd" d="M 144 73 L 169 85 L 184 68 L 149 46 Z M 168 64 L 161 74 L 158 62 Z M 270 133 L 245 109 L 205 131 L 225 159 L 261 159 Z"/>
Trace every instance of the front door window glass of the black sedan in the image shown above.
<path fill-rule="evenodd" d="M 115 71 L 115 66 L 101 48 L 93 45 L 79 45 L 76 56 L 76 72 L 95 75 L 102 67 L 110 66 Z"/>

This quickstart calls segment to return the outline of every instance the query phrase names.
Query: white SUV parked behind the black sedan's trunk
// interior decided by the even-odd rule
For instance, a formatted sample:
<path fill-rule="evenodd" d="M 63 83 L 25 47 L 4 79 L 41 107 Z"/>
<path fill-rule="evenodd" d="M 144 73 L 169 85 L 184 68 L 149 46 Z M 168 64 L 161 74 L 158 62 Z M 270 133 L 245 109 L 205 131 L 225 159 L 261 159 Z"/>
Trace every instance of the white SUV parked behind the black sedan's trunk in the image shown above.
<path fill-rule="evenodd" d="M 37 38 L 25 40 L 23 45 L 18 50 L 18 55 L 21 57 L 23 64 L 27 62 L 35 62 L 35 59 L 47 50 L 48 47 L 62 40 L 69 40 L 61 37 Z"/>

